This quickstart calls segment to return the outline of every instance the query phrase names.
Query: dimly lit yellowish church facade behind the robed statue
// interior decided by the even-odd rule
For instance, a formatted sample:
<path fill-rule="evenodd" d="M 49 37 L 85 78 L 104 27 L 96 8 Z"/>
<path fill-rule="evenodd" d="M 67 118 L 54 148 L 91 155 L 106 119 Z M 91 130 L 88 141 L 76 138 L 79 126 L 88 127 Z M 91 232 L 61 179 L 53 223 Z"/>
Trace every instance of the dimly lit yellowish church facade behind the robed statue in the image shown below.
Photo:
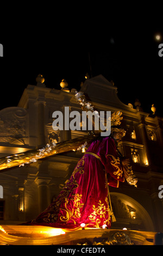
<path fill-rule="evenodd" d="M 68 90 L 47 88 L 42 76 L 36 85 L 28 85 L 17 107 L 0 111 L 0 157 L 23 153 L 47 143 L 61 142 L 87 135 L 87 131 L 59 130 L 52 127 L 54 111 L 78 111 L 82 108 Z M 120 151 L 133 166 L 137 188 L 127 182 L 110 187 L 116 222 L 111 228 L 163 231 L 163 118 L 145 113 L 138 100 L 135 106 L 118 99 L 117 88 L 102 75 L 87 79 L 80 89 L 98 111 L 121 111 L 126 136 Z M 17 224 L 33 220 L 53 202 L 73 172 L 82 151 L 47 157 L 0 173 L 3 194 L 0 198 L 0 223 Z"/>

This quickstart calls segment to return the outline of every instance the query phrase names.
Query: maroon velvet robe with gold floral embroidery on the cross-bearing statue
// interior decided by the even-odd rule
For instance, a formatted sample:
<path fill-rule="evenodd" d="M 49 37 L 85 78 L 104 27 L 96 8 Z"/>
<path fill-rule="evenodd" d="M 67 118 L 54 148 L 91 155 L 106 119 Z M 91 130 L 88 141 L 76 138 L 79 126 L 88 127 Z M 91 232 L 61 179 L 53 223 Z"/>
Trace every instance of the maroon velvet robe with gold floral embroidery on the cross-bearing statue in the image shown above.
<path fill-rule="evenodd" d="M 57 199 L 31 224 L 64 229 L 77 229 L 82 223 L 89 228 L 105 224 L 110 228 L 108 184 L 118 187 L 124 181 L 114 139 L 94 141 L 86 153 L 90 154 L 79 160 Z"/>

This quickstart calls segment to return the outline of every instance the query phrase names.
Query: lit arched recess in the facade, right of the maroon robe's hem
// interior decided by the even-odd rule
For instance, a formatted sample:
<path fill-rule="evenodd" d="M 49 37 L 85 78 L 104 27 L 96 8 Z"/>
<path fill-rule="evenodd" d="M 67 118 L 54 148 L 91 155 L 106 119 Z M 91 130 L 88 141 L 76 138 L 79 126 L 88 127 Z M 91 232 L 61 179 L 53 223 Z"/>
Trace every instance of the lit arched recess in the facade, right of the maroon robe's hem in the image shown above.
<path fill-rule="evenodd" d="M 111 192 L 110 198 L 116 217 L 116 222 L 112 223 L 112 228 L 154 231 L 151 217 L 135 199 L 117 192 Z"/>

